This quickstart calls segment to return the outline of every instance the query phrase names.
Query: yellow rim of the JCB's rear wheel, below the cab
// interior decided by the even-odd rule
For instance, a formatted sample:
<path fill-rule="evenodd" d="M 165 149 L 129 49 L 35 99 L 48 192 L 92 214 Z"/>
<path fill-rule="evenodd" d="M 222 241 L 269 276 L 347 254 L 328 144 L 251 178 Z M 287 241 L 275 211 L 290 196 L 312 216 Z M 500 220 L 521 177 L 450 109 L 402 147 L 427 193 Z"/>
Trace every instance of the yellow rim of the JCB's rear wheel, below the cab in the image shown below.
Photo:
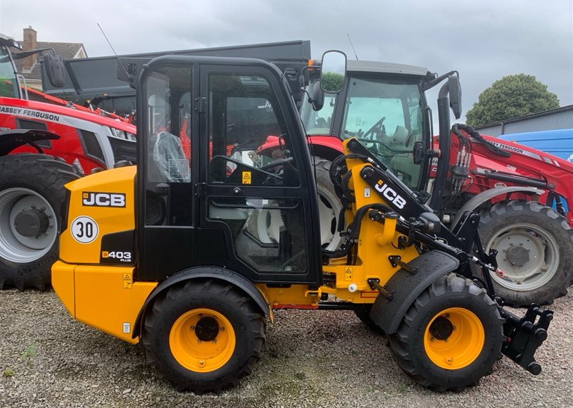
<path fill-rule="evenodd" d="M 220 369 L 235 349 L 231 322 L 219 312 L 194 309 L 182 314 L 169 333 L 173 357 L 186 369 L 208 373 Z"/>

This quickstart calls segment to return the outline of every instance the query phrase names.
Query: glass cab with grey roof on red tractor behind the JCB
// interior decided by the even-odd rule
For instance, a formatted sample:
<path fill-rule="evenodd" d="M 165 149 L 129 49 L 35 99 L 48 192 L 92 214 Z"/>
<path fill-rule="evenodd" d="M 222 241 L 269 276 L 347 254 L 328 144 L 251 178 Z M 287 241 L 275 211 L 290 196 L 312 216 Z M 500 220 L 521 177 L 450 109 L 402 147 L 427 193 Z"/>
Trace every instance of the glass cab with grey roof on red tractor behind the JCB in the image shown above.
<path fill-rule="evenodd" d="M 410 65 L 348 61 L 346 86 L 327 92 L 319 110 L 303 99 L 301 118 L 309 136 L 355 137 L 410 189 L 424 190 L 431 129 L 422 84 L 428 70 Z M 308 89 L 315 89 L 311 77 Z M 417 154 L 416 154 L 417 153 Z"/>

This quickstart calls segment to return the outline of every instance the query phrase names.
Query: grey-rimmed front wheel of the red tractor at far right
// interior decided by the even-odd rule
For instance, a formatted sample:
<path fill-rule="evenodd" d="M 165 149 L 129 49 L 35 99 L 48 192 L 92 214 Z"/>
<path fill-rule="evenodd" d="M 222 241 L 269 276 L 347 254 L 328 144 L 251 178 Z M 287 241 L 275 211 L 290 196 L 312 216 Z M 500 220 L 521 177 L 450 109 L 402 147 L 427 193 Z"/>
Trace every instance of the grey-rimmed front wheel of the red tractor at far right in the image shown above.
<path fill-rule="evenodd" d="M 481 213 L 479 234 L 498 251 L 504 276 L 491 274 L 508 305 L 549 305 L 572 283 L 573 229 L 552 208 L 536 201 L 496 203 Z"/>

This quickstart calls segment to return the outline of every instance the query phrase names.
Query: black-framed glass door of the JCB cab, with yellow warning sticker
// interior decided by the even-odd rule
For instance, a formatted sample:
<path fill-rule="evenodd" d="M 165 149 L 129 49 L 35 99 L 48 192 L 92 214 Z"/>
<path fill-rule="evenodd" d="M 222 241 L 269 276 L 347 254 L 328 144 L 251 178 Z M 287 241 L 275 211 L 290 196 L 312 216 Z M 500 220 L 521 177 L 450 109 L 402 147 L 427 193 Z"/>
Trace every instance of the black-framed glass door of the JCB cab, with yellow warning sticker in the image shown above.
<path fill-rule="evenodd" d="M 294 103 L 270 65 L 201 65 L 199 225 L 256 282 L 319 283 L 316 192 Z"/>

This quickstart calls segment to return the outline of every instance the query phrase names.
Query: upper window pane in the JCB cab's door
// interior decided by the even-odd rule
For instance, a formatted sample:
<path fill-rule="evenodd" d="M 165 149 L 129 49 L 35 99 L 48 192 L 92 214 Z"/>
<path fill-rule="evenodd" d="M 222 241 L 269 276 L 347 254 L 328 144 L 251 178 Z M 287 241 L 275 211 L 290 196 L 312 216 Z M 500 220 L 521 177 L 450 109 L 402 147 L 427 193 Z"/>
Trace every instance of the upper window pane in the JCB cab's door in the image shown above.
<path fill-rule="evenodd" d="M 211 184 L 298 186 L 289 134 L 267 79 L 209 75 Z"/>

